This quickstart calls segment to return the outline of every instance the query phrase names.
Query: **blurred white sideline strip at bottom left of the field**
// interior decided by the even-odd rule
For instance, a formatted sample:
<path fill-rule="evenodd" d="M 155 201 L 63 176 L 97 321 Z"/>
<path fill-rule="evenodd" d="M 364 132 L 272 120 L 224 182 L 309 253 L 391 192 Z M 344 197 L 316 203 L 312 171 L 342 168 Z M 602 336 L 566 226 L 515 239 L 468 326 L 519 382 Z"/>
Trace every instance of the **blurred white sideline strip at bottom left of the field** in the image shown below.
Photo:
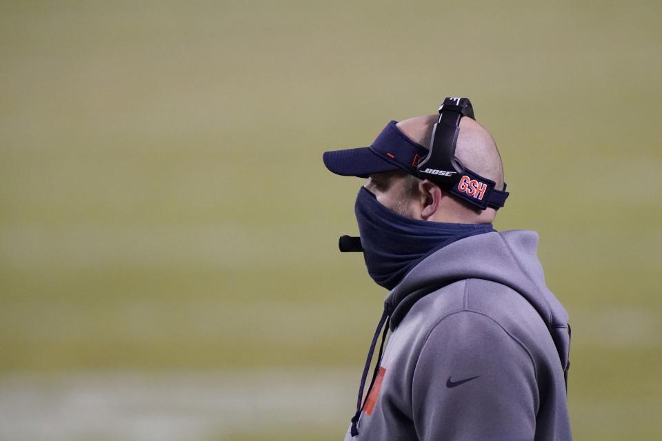
<path fill-rule="evenodd" d="M 307 428 L 342 438 L 360 372 L 16 373 L 0 377 L 0 439 L 179 441 Z"/>

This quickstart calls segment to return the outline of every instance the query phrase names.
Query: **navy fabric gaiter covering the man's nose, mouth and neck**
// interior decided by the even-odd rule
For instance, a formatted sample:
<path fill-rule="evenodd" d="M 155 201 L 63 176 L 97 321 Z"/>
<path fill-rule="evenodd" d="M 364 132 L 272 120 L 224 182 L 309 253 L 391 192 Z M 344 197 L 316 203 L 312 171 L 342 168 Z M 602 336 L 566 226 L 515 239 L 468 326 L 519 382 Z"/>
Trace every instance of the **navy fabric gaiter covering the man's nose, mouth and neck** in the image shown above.
<path fill-rule="evenodd" d="M 446 245 L 496 231 L 491 223 L 442 223 L 402 216 L 381 205 L 365 187 L 359 189 L 354 213 L 368 274 L 389 290 L 421 260 Z"/>

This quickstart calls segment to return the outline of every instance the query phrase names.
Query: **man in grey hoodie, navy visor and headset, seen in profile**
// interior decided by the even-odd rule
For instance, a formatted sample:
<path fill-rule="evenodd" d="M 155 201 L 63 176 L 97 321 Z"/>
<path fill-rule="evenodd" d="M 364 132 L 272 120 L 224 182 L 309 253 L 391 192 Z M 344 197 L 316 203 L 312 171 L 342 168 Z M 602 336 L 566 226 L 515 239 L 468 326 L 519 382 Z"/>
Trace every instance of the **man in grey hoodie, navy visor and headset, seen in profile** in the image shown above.
<path fill-rule="evenodd" d="M 331 172 L 367 178 L 360 244 L 341 248 L 362 250 L 390 290 L 345 440 L 570 440 L 568 314 L 545 287 L 538 236 L 492 227 L 508 197 L 503 165 L 468 100 L 447 99 L 440 114 L 323 155 Z M 426 167 L 448 152 L 448 167 Z"/>

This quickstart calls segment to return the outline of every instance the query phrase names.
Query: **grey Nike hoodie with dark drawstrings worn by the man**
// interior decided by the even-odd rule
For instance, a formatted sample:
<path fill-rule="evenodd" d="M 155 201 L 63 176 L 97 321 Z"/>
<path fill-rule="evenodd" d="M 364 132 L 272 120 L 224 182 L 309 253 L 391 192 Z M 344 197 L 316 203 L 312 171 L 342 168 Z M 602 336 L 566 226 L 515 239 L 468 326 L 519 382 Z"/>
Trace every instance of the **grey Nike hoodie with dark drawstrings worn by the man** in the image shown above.
<path fill-rule="evenodd" d="M 572 438 L 568 314 L 537 243 L 523 230 L 464 238 L 390 291 L 391 334 L 345 440 Z"/>

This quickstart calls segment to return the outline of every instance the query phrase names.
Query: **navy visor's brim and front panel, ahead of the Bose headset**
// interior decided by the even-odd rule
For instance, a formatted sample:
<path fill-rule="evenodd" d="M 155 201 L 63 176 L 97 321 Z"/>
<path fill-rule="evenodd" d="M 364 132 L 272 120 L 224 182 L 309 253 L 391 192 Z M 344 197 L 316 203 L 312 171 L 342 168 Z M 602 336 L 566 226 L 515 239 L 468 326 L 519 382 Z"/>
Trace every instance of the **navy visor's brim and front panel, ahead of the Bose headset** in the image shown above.
<path fill-rule="evenodd" d="M 417 163 L 428 149 L 409 139 L 390 121 L 370 147 L 324 152 L 322 160 L 330 172 L 367 178 L 370 174 L 404 170 L 417 176 Z"/>

